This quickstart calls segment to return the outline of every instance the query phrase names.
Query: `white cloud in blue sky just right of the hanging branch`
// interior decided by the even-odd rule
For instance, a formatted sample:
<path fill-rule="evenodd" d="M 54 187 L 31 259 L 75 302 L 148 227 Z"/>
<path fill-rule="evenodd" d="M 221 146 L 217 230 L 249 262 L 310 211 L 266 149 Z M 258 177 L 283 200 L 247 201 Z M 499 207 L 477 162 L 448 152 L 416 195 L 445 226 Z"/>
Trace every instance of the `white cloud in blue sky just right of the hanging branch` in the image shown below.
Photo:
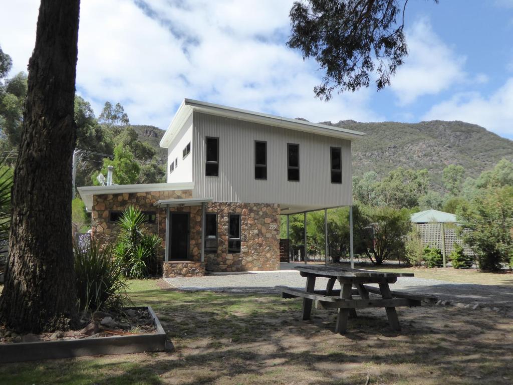
<path fill-rule="evenodd" d="M 406 42 L 409 55 L 391 80 L 401 106 L 465 80 L 465 57 L 442 42 L 426 20 L 418 21 L 406 32 Z"/>

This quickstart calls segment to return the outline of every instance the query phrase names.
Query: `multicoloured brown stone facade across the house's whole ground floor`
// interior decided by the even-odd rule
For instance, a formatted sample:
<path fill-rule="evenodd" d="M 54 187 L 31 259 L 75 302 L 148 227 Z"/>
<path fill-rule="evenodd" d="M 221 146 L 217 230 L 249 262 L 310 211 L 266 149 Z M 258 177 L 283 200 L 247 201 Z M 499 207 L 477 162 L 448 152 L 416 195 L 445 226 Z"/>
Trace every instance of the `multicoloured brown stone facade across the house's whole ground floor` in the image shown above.
<path fill-rule="evenodd" d="M 123 194 L 95 195 L 92 210 L 92 236 L 100 243 L 115 242 L 119 226 L 109 222 L 110 211 L 123 211 L 127 206 L 139 207 L 142 211 L 155 211 L 155 223 L 146 224 L 148 232 L 162 238 L 159 251 L 164 260 L 166 247 L 166 208 L 153 206 L 158 200 L 192 198 L 192 190 L 151 191 Z M 190 214 L 189 260 L 201 261 L 201 206 L 170 207 L 171 212 Z M 241 272 L 265 271 L 280 268 L 280 207 L 278 204 L 226 203 L 206 204 L 207 213 L 217 214 L 218 248 L 205 253 L 205 266 L 202 269 L 194 264 L 179 269 L 176 263 L 164 264 L 165 276 L 190 276 L 196 274 L 191 268 L 202 272 Z M 228 221 L 230 214 L 241 215 L 241 251 L 228 252 Z M 170 258 L 172 256 L 170 255 Z M 171 261 L 172 262 L 172 261 Z M 184 263 L 184 261 L 181 261 Z M 166 271 L 167 269 L 167 271 Z M 188 269 L 185 271 L 185 269 Z M 185 273 L 179 273 L 184 270 Z"/>

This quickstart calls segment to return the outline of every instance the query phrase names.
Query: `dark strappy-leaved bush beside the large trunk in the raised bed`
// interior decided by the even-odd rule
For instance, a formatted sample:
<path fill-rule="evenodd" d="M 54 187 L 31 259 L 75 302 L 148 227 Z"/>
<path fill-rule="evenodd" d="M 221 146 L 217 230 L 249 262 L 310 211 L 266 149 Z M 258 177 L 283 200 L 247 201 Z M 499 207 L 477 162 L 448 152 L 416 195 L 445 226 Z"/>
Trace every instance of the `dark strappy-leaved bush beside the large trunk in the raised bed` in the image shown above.
<path fill-rule="evenodd" d="M 86 248 L 74 246 L 76 297 L 79 310 L 116 309 L 127 302 L 127 284 L 112 247 L 100 248 L 91 240 Z"/>

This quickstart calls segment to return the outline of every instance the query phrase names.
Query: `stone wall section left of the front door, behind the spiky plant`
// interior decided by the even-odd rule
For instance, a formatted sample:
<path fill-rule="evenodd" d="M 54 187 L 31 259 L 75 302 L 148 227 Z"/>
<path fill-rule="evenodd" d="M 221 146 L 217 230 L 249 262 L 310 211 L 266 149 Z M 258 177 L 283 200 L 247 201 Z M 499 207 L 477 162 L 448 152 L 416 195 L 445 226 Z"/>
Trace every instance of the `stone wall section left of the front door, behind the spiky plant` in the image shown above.
<path fill-rule="evenodd" d="M 162 199 L 192 198 L 192 190 L 124 192 L 123 194 L 104 194 L 93 196 L 91 213 L 92 237 L 101 245 L 115 243 L 119 234 L 119 225 L 109 222 L 110 211 L 123 211 L 127 206 L 135 206 L 141 211 L 155 211 L 155 223 L 147 223 L 146 229 L 151 234 L 162 238 L 161 258 L 165 255 L 166 247 L 166 209 L 153 206 Z"/>

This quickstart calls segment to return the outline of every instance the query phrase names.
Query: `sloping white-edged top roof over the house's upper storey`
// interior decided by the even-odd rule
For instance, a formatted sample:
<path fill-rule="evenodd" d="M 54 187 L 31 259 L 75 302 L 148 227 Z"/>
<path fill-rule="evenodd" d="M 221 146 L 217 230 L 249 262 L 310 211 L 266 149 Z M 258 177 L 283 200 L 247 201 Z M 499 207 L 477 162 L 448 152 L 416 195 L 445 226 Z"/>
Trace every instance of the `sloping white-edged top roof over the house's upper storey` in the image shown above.
<path fill-rule="evenodd" d="M 189 119 L 193 111 L 340 139 L 353 140 L 365 135 L 365 133 L 360 131 L 328 126 L 325 124 L 311 123 L 298 119 L 283 118 L 277 115 L 222 106 L 220 104 L 184 99 L 160 141 L 161 147 L 168 148 L 170 146 L 171 142 L 176 137 L 176 134 L 180 131 L 187 119 Z"/>

